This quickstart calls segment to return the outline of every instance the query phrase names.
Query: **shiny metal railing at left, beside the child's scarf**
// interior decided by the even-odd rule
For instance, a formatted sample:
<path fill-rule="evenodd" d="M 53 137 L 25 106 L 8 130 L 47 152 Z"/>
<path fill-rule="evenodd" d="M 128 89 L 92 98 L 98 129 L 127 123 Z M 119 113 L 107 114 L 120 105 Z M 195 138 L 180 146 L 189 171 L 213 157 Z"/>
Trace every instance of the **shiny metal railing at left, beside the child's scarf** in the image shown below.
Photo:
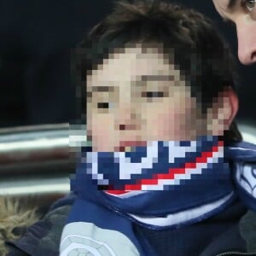
<path fill-rule="evenodd" d="M 69 192 L 69 125 L 0 129 L 0 195 L 46 207 Z"/>

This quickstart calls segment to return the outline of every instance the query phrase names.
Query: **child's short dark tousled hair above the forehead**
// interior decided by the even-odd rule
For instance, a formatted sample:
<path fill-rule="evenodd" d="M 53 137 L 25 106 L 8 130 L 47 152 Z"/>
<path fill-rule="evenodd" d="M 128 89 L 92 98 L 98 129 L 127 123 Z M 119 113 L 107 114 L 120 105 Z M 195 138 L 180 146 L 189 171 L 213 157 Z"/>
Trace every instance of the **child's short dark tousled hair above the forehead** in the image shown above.
<path fill-rule="evenodd" d="M 108 57 L 112 49 L 127 43 L 161 44 L 164 53 L 172 53 L 172 62 L 174 55 L 174 64 L 202 113 L 207 113 L 220 92 L 228 87 L 235 90 L 235 61 L 212 21 L 193 9 L 163 1 L 117 2 L 113 12 L 94 26 L 78 47 L 79 79 L 84 80 L 86 72 Z M 225 139 L 241 140 L 235 122 Z"/>

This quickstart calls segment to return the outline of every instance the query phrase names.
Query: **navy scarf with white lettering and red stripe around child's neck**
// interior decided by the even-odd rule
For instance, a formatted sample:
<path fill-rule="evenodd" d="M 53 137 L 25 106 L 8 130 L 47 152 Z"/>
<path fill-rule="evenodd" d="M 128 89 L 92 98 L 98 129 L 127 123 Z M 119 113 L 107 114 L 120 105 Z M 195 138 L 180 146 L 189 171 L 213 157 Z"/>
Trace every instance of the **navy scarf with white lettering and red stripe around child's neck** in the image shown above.
<path fill-rule="evenodd" d="M 61 256 L 73 251 L 154 255 L 133 224 L 173 229 L 208 218 L 235 200 L 218 137 L 148 142 L 129 151 L 83 148 L 72 180 L 78 199 L 62 232 Z"/>

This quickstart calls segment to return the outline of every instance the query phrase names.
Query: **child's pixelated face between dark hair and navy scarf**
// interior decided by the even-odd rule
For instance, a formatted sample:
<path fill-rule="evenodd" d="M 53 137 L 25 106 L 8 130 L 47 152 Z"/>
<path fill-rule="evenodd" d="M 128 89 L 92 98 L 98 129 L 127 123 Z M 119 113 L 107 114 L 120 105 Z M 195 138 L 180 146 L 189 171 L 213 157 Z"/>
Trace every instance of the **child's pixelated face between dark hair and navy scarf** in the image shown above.
<path fill-rule="evenodd" d="M 161 52 L 141 44 L 117 49 L 87 76 L 87 131 L 94 151 L 207 135 L 189 86 Z"/>

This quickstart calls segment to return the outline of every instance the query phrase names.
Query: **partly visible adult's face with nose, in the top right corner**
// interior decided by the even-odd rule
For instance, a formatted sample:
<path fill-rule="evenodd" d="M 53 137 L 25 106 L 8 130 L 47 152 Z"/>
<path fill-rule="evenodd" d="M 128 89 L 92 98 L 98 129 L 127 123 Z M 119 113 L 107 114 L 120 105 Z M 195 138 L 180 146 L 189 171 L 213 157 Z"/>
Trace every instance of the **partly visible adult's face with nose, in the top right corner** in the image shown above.
<path fill-rule="evenodd" d="M 236 24 L 238 57 L 245 65 L 256 63 L 256 1 L 212 0 L 224 20 Z"/>

